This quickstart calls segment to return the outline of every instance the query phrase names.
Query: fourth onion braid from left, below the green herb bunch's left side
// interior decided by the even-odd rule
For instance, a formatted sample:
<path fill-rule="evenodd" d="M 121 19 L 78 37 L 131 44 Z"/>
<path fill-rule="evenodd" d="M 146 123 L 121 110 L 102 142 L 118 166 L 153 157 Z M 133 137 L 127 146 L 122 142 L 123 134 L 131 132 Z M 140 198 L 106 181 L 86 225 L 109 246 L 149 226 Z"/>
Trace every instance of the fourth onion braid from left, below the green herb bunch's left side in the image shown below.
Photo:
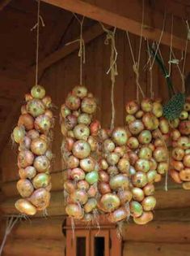
<path fill-rule="evenodd" d="M 156 205 L 154 182 L 160 181 L 169 168 L 166 146 L 169 124 L 163 118 L 159 100 L 145 98 L 140 104 L 128 102 L 125 109 L 132 193 L 130 213 L 135 223 L 146 224 L 153 219 Z"/>

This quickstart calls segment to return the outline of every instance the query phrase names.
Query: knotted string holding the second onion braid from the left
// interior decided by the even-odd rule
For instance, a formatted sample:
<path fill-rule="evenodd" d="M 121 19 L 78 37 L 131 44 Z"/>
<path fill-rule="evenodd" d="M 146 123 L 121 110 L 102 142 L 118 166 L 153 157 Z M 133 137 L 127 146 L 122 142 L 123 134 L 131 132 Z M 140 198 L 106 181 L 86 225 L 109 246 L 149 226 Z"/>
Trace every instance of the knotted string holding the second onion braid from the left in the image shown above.
<path fill-rule="evenodd" d="M 79 42 L 79 50 L 78 50 L 78 57 L 80 58 L 80 85 L 82 85 L 82 64 L 85 64 L 86 62 L 86 56 L 85 56 L 85 42 L 82 37 L 83 34 L 83 24 L 84 24 L 84 16 L 82 17 L 82 20 L 78 19 L 78 16 L 73 13 L 74 17 L 78 20 L 78 23 L 80 24 L 80 38 L 70 41 L 65 46 L 69 46 L 75 42 Z"/>

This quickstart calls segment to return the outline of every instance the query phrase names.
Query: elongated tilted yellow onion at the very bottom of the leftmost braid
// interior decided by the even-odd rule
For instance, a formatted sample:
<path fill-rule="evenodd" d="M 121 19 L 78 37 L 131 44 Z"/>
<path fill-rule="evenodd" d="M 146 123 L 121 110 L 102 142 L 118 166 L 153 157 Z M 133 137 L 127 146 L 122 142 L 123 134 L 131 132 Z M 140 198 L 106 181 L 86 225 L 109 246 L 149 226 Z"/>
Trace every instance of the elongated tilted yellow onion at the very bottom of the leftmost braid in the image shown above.
<path fill-rule="evenodd" d="M 24 215 L 36 215 L 36 207 L 26 199 L 19 199 L 15 202 L 15 207 Z"/>

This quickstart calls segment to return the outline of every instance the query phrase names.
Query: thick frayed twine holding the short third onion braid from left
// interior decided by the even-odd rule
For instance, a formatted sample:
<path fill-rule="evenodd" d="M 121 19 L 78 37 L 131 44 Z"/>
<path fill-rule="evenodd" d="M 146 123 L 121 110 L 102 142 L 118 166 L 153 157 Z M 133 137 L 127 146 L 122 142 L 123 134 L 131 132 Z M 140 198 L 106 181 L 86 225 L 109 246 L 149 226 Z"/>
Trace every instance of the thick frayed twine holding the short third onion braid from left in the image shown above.
<path fill-rule="evenodd" d="M 100 23 L 101 24 L 101 23 Z M 116 28 L 112 30 L 109 30 L 108 28 L 105 28 L 103 24 L 101 24 L 103 31 L 107 33 L 106 39 L 104 41 L 105 45 L 108 45 L 109 42 L 111 42 L 111 56 L 110 56 L 110 67 L 108 69 L 107 75 L 111 73 L 111 80 L 112 80 L 112 90 L 111 90 L 111 102 L 112 102 L 112 119 L 111 119 L 111 129 L 114 128 L 115 124 L 115 105 L 114 105 L 114 86 L 116 83 L 116 76 L 118 75 L 117 72 L 117 65 L 116 65 L 116 59 L 117 59 L 117 51 L 116 51 Z"/>

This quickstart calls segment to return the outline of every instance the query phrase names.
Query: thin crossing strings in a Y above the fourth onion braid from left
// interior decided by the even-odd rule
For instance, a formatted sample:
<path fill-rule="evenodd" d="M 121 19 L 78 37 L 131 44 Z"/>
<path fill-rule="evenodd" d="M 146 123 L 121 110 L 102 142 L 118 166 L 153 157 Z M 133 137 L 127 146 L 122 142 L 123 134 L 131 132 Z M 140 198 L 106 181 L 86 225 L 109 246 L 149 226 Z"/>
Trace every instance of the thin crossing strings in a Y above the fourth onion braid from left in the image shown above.
<path fill-rule="evenodd" d="M 135 58 L 134 58 L 133 48 L 132 48 L 130 37 L 129 37 L 129 32 L 126 31 L 128 41 L 129 41 L 129 49 L 131 51 L 131 55 L 132 55 L 132 59 L 133 59 L 133 72 L 136 75 L 135 81 L 136 81 L 136 85 L 137 85 L 137 102 L 139 102 L 139 90 L 141 91 L 142 97 L 145 98 L 145 93 L 141 89 L 141 85 L 139 83 L 139 66 L 140 66 L 140 61 L 141 61 L 141 41 L 142 41 L 142 32 L 143 32 L 143 27 L 144 27 L 144 19 L 145 19 L 145 1 L 142 0 L 141 37 L 140 37 L 140 42 L 139 42 L 137 62 L 135 61 Z"/>

